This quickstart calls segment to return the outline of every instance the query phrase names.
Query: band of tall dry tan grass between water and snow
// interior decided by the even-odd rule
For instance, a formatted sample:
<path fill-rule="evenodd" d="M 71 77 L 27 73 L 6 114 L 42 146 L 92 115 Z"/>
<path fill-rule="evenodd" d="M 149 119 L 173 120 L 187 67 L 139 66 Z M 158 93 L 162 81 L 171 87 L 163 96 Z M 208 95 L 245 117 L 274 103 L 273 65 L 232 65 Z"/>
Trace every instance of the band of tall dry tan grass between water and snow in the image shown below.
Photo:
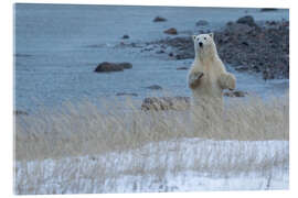
<path fill-rule="evenodd" d="M 113 102 L 102 108 L 89 101 L 67 103 L 61 109 L 15 116 L 14 152 L 17 161 L 58 158 L 181 138 L 288 140 L 288 95 L 268 101 L 257 97 L 231 100 L 222 114 L 211 117 L 200 110 L 141 111 L 131 101 L 125 103 L 125 110 Z"/>

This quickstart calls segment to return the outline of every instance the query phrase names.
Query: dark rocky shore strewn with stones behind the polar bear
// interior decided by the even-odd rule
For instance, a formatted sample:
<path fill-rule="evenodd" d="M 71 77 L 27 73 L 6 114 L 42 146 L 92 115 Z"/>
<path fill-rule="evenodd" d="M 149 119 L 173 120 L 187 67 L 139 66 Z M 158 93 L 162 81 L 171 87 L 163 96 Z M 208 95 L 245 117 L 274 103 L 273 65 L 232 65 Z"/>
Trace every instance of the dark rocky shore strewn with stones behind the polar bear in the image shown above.
<path fill-rule="evenodd" d="M 206 33 L 198 31 L 194 34 Z M 262 73 L 264 79 L 289 78 L 289 22 L 255 22 L 251 15 L 228 22 L 214 32 L 219 55 L 237 70 Z M 151 42 L 175 59 L 193 58 L 191 36 L 167 37 Z"/>

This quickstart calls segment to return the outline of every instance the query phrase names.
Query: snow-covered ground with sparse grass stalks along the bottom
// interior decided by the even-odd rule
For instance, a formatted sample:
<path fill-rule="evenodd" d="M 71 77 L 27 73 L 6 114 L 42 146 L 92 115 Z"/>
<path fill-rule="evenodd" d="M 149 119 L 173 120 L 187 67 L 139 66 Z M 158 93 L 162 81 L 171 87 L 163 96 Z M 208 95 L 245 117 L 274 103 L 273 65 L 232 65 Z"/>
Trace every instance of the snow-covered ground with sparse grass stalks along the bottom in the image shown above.
<path fill-rule="evenodd" d="M 138 150 L 15 162 L 15 194 L 288 189 L 288 141 L 179 139 Z"/>

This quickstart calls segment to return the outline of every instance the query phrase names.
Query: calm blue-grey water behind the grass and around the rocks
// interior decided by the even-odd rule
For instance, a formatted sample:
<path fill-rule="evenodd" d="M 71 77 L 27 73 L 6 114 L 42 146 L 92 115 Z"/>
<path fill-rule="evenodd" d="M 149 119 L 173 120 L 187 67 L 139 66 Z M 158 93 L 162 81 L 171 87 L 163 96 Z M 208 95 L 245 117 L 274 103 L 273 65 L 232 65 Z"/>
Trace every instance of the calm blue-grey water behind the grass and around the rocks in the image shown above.
<path fill-rule="evenodd" d="M 116 97 L 136 92 L 141 100 L 159 91 L 146 89 L 160 85 L 172 95 L 189 96 L 187 70 L 191 59 L 174 61 L 164 55 L 140 53 L 120 47 L 121 42 L 145 43 L 168 35 L 163 30 L 178 29 L 180 35 L 198 30 L 195 22 L 206 20 L 207 30 L 251 14 L 255 20 L 289 19 L 288 10 L 259 12 L 258 9 L 214 9 L 171 7 L 114 7 L 66 4 L 15 4 L 15 107 L 34 111 L 39 106 L 58 107 L 64 101 Z M 161 15 L 167 22 L 153 23 Z M 128 34 L 130 38 L 123 41 Z M 96 45 L 97 47 L 91 47 Z M 121 73 L 93 73 L 102 62 L 129 62 L 132 69 Z M 238 89 L 263 96 L 279 94 L 288 80 L 264 82 L 259 76 L 235 73 Z"/>

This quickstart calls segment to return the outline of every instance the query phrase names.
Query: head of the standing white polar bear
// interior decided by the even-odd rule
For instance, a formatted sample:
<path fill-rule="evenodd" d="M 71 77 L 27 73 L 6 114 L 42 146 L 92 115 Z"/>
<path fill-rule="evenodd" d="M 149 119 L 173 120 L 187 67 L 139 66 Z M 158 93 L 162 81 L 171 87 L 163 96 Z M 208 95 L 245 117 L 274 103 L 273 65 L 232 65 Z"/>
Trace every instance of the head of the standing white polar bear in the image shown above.
<path fill-rule="evenodd" d="M 199 58 L 214 56 L 217 54 L 216 46 L 213 40 L 213 33 L 193 35 L 192 40 L 194 43 L 195 56 L 199 56 Z"/>

